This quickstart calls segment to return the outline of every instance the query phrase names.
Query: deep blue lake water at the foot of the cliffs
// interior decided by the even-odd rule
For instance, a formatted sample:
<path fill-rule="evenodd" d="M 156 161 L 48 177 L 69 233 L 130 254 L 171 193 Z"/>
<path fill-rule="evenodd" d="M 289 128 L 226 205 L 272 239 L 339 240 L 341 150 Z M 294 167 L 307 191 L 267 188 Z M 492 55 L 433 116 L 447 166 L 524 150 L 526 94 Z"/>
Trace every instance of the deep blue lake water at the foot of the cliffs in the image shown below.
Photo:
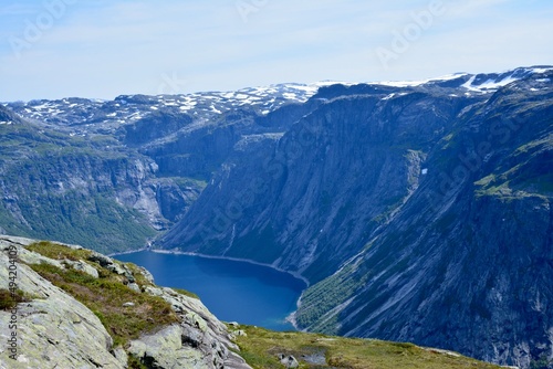
<path fill-rule="evenodd" d="M 146 267 L 159 286 L 194 292 L 220 320 L 294 329 L 285 318 L 295 310 L 305 283 L 291 274 L 247 262 L 150 251 L 115 259 Z"/>

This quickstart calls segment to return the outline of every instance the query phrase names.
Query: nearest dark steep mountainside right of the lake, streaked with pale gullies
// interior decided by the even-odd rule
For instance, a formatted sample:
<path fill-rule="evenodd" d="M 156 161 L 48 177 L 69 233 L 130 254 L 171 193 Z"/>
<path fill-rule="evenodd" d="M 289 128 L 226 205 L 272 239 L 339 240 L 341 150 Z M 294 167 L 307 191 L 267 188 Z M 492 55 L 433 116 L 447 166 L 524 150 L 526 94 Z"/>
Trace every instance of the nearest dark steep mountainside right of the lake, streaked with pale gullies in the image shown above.
<path fill-rule="evenodd" d="M 299 323 L 522 368 L 551 361 L 553 89 L 543 84 L 512 84 L 465 110 L 394 219 L 304 294 Z"/>

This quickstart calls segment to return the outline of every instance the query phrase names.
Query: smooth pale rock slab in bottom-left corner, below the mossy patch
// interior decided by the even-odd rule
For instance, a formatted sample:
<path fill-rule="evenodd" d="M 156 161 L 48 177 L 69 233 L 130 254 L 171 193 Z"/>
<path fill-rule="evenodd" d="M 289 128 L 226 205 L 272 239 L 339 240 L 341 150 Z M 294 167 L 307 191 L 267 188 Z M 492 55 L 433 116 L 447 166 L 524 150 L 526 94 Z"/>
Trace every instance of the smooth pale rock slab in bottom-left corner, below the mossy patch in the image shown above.
<path fill-rule="evenodd" d="M 9 289 L 9 257 L 7 250 L 15 246 L 25 253 L 22 240 L 0 240 L 0 288 Z M 28 243 L 23 240 L 24 243 Z M 86 306 L 52 285 L 23 263 L 17 264 L 18 287 L 33 296 L 17 309 L 18 356 L 9 358 L 4 342 L 11 313 L 0 310 L 2 352 L 0 366 L 4 368 L 123 368 L 109 352 L 113 340 L 100 319 Z"/>

